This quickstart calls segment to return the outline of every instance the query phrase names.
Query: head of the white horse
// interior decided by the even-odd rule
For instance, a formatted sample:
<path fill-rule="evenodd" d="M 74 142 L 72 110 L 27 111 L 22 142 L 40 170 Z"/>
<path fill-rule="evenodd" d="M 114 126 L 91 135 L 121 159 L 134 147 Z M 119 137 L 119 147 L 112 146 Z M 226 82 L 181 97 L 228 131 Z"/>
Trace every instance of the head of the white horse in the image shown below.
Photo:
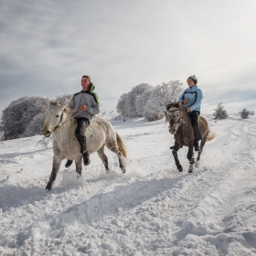
<path fill-rule="evenodd" d="M 45 137 L 49 137 L 50 133 L 61 123 L 63 111 L 67 105 L 67 101 L 49 101 L 46 111 L 46 119 L 41 133 Z"/>

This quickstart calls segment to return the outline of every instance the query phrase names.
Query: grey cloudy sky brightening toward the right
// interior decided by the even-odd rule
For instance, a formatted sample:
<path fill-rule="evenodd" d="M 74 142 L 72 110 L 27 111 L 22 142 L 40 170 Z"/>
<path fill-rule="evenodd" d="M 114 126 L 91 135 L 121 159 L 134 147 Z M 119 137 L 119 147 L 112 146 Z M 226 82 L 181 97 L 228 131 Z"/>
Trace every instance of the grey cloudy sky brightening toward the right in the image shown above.
<path fill-rule="evenodd" d="M 196 75 L 201 113 L 256 111 L 254 0 L 0 0 L 0 112 L 91 76 L 101 111 L 140 83 Z"/>

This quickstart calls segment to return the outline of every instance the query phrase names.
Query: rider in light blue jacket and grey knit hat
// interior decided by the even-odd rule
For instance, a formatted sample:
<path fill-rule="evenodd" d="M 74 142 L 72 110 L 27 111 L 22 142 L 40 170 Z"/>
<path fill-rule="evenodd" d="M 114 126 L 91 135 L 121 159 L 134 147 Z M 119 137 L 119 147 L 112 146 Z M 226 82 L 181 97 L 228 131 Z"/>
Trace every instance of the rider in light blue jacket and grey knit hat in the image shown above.
<path fill-rule="evenodd" d="M 187 79 L 188 88 L 183 91 L 178 101 L 182 102 L 183 106 L 187 109 L 187 114 L 191 118 L 191 123 L 195 134 L 195 150 L 199 151 L 198 141 L 201 140 L 199 132 L 199 115 L 201 111 L 201 101 L 203 100 L 203 93 L 197 87 L 197 78 L 190 76 Z"/>

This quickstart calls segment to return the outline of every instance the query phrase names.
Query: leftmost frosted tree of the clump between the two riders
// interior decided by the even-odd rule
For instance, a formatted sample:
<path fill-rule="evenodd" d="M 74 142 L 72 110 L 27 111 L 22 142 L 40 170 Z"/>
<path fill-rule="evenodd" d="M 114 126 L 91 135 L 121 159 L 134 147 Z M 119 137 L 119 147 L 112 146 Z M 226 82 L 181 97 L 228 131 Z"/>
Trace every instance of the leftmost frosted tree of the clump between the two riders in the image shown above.
<path fill-rule="evenodd" d="M 127 112 L 127 116 L 140 116 L 136 109 L 136 100 L 143 94 L 145 90 L 150 89 L 151 87 L 152 86 L 148 83 L 141 83 L 139 85 L 134 86 L 132 91 L 127 93 L 127 97 L 125 100 L 125 111 Z"/>

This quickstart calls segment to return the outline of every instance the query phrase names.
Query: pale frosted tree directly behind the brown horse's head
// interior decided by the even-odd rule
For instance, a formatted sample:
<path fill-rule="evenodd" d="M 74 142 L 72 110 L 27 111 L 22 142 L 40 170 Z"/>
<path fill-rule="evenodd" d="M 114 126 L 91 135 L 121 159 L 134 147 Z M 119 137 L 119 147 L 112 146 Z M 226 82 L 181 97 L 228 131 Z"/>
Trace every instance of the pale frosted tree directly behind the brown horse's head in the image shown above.
<path fill-rule="evenodd" d="M 166 105 L 177 101 L 183 91 L 179 80 L 172 80 L 155 86 L 144 106 L 144 118 L 148 121 L 161 119 L 165 116 Z"/>

